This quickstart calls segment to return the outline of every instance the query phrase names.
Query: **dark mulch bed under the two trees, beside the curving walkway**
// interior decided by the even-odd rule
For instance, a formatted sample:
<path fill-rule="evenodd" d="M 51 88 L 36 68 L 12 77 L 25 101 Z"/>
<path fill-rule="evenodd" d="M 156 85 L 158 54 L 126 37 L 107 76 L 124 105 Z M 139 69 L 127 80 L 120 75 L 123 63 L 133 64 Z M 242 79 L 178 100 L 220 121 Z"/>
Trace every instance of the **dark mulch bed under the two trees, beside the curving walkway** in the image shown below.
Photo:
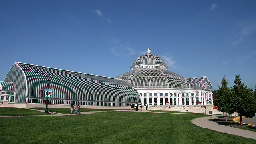
<path fill-rule="evenodd" d="M 227 121 L 225 121 L 226 119 L 223 117 L 220 118 L 214 118 L 212 121 L 221 124 L 221 125 L 225 125 L 225 126 L 230 126 L 230 127 L 234 127 L 234 128 L 240 128 L 240 129 L 244 129 L 244 130 L 250 130 L 250 131 L 254 131 L 256 132 L 256 126 L 250 126 L 247 124 L 243 124 L 242 126 L 240 125 L 240 123 L 238 122 L 234 122 L 233 121 L 233 116 L 228 117 Z"/>

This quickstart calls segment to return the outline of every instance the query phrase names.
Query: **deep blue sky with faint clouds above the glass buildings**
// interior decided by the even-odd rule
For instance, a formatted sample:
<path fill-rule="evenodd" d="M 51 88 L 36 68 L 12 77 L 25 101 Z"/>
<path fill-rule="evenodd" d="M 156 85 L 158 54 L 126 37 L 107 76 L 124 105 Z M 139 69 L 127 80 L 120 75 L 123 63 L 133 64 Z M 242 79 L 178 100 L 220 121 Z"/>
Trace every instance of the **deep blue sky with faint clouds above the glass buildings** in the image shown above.
<path fill-rule="evenodd" d="M 0 1 L 0 81 L 15 61 L 116 77 L 148 48 L 213 89 L 236 74 L 254 88 L 256 1 Z"/>

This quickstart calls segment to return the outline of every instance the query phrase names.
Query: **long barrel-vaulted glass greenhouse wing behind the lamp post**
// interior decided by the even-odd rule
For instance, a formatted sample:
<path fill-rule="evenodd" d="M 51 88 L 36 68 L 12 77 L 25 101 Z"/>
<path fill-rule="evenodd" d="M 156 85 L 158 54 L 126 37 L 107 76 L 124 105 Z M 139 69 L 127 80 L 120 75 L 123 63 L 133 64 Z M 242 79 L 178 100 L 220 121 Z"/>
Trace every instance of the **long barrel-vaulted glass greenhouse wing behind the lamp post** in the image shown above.
<path fill-rule="evenodd" d="M 132 86 L 117 78 L 21 62 L 15 62 L 1 82 L 1 100 L 9 100 L 14 107 L 45 106 L 47 80 L 51 80 L 49 106 L 67 107 L 65 105 L 70 105 L 71 101 L 79 102 L 81 107 L 130 106 L 141 100 Z"/>

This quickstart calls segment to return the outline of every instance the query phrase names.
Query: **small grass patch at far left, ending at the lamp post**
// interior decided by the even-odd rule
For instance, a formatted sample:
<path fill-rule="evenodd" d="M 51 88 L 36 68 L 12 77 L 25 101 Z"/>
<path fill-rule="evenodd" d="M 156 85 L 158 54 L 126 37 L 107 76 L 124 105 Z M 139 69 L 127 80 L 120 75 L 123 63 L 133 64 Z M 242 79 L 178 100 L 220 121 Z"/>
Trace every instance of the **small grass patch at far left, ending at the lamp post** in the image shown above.
<path fill-rule="evenodd" d="M 0 107 L 0 116 L 34 116 L 34 115 L 44 115 L 44 113 L 38 112 L 35 110 L 28 110 L 25 108 Z"/>

